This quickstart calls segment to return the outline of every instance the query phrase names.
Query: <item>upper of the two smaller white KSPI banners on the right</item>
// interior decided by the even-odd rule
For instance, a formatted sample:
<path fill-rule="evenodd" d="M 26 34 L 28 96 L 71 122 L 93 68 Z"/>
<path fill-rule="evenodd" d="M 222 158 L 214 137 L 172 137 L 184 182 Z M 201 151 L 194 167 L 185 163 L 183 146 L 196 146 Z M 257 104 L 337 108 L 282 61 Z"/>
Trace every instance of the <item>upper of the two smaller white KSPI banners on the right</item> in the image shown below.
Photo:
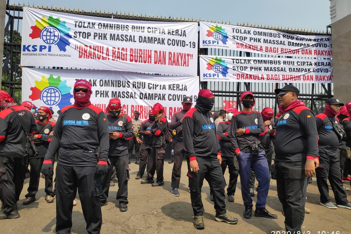
<path fill-rule="evenodd" d="M 200 48 L 331 58 L 331 36 L 297 35 L 276 30 L 200 22 Z"/>

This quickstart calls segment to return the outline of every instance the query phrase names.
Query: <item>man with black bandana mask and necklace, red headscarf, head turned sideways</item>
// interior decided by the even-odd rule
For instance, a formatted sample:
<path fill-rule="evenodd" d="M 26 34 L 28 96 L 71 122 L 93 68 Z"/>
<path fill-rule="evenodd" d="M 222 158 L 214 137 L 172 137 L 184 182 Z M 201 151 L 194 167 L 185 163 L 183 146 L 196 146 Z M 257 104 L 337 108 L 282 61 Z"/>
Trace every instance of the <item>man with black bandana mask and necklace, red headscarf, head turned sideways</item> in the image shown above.
<path fill-rule="evenodd" d="M 216 137 L 216 127 L 210 112 L 214 95 L 208 89 L 199 92 L 195 108 L 191 108 L 183 119 L 183 145 L 187 156 L 191 206 L 194 212 L 194 227 L 204 229 L 204 206 L 201 201 L 201 187 L 204 179 L 214 193 L 215 220 L 236 224 L 225 208 L 225 181 L 220 167 L 221 152 Z"/>

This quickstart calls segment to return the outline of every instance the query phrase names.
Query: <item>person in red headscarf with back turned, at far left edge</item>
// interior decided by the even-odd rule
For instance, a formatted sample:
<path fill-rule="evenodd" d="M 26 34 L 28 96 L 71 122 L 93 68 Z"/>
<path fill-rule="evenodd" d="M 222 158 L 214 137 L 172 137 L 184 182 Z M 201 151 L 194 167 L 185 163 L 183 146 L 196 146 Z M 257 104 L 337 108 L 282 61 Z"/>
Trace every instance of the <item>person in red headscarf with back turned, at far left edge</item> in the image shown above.
<path fill-rule="evenodd" d="M 4 90 L 0 90 L 0 110 L 0 219 L 15 219 L 20 216 L 17 201 L 26 172 L 26 135 L 34 134 L 37 126 L 33 114 Z"/>

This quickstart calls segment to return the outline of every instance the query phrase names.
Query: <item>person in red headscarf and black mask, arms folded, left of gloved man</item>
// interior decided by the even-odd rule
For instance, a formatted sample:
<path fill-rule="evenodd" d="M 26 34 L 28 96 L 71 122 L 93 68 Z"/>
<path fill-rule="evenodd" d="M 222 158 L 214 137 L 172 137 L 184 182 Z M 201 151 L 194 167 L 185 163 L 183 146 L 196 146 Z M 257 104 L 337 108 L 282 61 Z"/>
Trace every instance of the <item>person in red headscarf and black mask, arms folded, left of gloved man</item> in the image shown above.
<path fill-rule="evenodd" d="M 22 102 L 23 106 L 23 102 Z M 25 195 L 26 200 L 23 202 L 23 205 L 29 205 L 33 201 L 36 201 L 35 194 L 38 192 L 39 187 L 39 178 L 40 170 L 42 163 L 44 161 L 47 148 L 52 139 L 55 123 L 49 121 L 52 118 L 51 110 L 49 107 L 41 106 L 38 108 L 37 120 L 35 123 L 37 125 L 37 133 L 32 136 L 32 140 L 35 143 L 35 146 L 38 148 L 38 156 L 32 157 L 29 159 L 29 164 L 31 165 L 30 180 L 28 193 Z M 54 162 L 54 160 L 52 160 Z M 51 176 L 45 177 L 45 200 L 47 203 L 54 201 L 55 193 L 52 190 L 53 179 Z"/>

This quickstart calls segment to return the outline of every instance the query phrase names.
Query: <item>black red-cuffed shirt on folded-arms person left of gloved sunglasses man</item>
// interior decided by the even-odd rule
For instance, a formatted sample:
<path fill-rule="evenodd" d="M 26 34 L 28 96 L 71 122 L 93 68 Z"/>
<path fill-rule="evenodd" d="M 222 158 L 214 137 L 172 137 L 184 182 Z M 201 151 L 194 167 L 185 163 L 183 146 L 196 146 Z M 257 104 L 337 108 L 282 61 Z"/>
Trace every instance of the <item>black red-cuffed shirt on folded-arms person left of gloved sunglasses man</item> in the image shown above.
<path fill-rule="evenodd" d="M 38 156 L 35 158 L 44 158 L 47 148 L 49 147 L 49 143 L 52 139 L 52 135 L 49 134 L 54 131 L 55 122 L 48 121 L 46 123 L 42 123 L 39 120 L 35 120 L 35 124 L 37 125 L 37 132 L 35 135 L 38 136 L 37 138 L 34 138 L 34 135 L 31 137 L 35 143 L 35 146 L 38 148 Z"/>

